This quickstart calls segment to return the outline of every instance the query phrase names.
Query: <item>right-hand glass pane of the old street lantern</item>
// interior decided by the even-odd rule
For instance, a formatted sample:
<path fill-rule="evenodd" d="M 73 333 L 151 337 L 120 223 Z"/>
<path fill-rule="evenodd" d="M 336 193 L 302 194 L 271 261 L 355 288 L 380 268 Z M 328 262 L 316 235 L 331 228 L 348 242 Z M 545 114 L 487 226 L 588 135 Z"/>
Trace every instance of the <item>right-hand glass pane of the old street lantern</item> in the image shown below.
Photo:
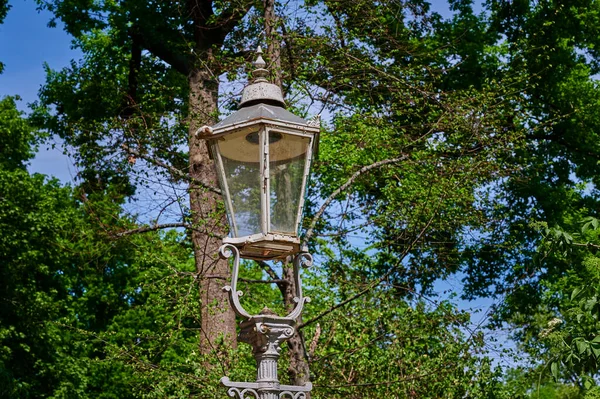
<path fill-rule="evenodd" d="M 269 132 L 270 231 L 298 234 L 310 138 Z"/>

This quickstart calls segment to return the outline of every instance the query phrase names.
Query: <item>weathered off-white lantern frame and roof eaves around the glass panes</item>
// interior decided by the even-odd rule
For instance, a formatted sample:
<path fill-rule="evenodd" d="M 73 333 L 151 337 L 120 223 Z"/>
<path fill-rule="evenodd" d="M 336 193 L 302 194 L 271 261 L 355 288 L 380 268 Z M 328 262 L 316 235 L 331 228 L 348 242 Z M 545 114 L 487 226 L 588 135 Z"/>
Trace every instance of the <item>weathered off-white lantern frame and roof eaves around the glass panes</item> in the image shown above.
<path fill-rule="evenodd" d="M 306 189 L 310 174 L 313 156 L 316 154 L 318 136 L 320 133 L 319 118 L 306 121 L 287 111 L 278 102 L 259 101 L 244 104 L 242 108 L 217 123 L 212 127 L 212 134 L 208 137 L 210 151 L 219 178 L 219 184 L 225 202 L 227 219 L 230 227 L 230 236 L 223 239 L 223 243 L 232 244 L 239 249 L 242 257 L 256 260 L 283 259 L 301 252 L 299 229 L 302 221 Z M 219 149 L 219 141 L 247 131 L 243 137 L 250 141 L 248 136 L 258 132 L 259 146 L 259 187 L 260 187 L 260 232 L 240 235 L 238 222 L 234 211 L 233 199 L 228 185 L 227 175 L 223 163 L 223 156 Z M 294 232 L 279 232 L 272 228 L 271 214 L 271 179 L 270 167 L 275 154 L 271 153 L 269 137 L 271 133 L 277 133 L 282 138 L 302 137 L 309 140 L 304 155 L 304 171 L 302 173 L 300 197 L 298 201 Z M 241 140 L 244 140 L 242 138 Z M 253 145 L 246 143 L 247 145 Z M 255 144 L 254 144 L 255 145 Z M 294 158 L 280 160 L 292 162 Z"/>

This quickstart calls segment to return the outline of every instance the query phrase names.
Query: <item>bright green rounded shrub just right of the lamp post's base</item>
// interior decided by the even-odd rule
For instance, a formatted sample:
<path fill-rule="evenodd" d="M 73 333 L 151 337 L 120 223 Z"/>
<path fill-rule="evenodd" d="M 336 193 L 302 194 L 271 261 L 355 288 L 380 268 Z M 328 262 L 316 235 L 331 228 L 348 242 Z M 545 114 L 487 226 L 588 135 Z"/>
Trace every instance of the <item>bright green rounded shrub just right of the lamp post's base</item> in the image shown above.
<path fill-rule="evenodd" d="M 481 332 L 449 303 L 398 300 L 394 290 L 362 296 L 315 327 L 314 396 L 328 398 L 493 397 L 498 376 Z M 317 337 L 317 338 L 315 338 Z M 311 344 L 312 345 L 312 344 Z"/>

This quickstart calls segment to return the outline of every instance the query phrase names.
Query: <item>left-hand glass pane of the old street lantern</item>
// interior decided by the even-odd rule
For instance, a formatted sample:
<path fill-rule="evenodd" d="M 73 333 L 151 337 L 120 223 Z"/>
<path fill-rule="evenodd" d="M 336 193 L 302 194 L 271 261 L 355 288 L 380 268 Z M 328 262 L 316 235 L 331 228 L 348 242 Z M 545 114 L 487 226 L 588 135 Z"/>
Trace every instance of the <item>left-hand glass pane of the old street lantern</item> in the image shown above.
<path fill-rule="evenodd" d="M 231 200 L 233 237 L 262 232 L 259 142 L 257 129 L 244 129 L 222 137 L 217 143 Z"/>

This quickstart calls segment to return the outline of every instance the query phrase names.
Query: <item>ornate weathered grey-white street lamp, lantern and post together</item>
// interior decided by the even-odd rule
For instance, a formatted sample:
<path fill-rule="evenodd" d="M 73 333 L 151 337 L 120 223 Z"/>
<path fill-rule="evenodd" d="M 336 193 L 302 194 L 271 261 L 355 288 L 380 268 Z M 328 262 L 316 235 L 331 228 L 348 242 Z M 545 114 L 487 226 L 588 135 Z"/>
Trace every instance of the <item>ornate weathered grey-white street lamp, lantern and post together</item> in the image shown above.
<path fill-rule="evenodd" d="M 242 317 L 239 340 L 253 347 L 257 362 L 256 382 L 221 383 L 230 397 L 238 399 L 304 399 L 312 388 L 281 385 L 277 377 L 280 345 L 295 332 L 308 297 L 302 295 L 300 266 L 310 266 L 312 257 L 300 248 L 298 234 L 313 148 L 318 138 L 318 117 L 306 121 L 287 111 L 279 86 L 266 79 L 269 72 L 258 48 L 254 80 L 242 93 L 240 109 L 215 126 L 210 133 L 211 153 L 225 201 L 230 237 L 223 239 L 223 258 L 233 256 L 231 285 L 224 287 L 235 313 Z M 237 289 L 240 257 L 257 260 L 292 256 L 296 295 L 295 308 L 278 316 L 268 308 L 258 315 L 248 313 Z"/>

